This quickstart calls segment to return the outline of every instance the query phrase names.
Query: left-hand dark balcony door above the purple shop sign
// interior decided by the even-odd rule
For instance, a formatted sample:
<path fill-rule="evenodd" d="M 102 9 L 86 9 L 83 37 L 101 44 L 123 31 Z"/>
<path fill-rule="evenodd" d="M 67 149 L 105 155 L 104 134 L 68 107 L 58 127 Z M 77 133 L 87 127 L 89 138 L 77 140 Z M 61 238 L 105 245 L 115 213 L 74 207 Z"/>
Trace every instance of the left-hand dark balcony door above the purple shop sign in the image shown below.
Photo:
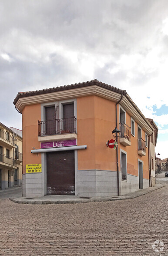
<path fill-rule="evenodd" d="M 55 131 L 55 106 L 46 107 L 46 135 L 53 135 Z"/>

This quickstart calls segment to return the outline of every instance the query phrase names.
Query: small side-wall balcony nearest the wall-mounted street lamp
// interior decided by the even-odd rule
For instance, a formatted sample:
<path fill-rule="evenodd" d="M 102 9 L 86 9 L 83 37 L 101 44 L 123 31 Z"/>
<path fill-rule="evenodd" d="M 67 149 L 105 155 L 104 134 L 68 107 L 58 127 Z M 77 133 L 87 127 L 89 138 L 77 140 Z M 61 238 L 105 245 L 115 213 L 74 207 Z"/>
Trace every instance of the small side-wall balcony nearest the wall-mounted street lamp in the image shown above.
<path fill-rule="evenodd" d="M 120 131 L 120 143 L 124 146 L 131 146 L 131 128 L 125 123 L 121 123 Z"/>

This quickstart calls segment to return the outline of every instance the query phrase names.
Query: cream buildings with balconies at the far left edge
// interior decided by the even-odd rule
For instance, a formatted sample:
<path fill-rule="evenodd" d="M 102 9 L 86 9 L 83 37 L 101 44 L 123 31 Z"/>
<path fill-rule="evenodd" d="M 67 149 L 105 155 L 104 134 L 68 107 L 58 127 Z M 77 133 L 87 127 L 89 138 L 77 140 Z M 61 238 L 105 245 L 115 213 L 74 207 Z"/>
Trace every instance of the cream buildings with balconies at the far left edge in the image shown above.
<path fill-rule="evenodd" d="M 0 123 L 0 189 L 21 185 L 22 138 Z"/>

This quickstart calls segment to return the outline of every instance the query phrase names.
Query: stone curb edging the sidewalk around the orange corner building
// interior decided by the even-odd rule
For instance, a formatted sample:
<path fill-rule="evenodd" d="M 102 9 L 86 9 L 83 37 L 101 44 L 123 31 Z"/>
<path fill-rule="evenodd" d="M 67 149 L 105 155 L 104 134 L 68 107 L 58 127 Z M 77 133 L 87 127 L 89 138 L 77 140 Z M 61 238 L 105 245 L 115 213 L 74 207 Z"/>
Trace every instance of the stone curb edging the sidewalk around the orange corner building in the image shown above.
<path fill-rule="evenodd" d="M 30 204 L 30 205 L 46 205 L 46 204 L 76 204 L 76 203 L 87 203 L 87 202 L 108 202 L 108 201 L 116 201 L 116 200 L 126 200 L 126 199 L 134 199 L 136 197 L 139 197 L 141 195 L 146 195 L 152 191 L 155 191 L 157 189 L 161 189 L 165 187 L 165 185 L 160 184 L 159 187 L 152 187 L 153 189 L 151 190 L 147 190 L 147 191 L 137 191 L 137 192 L 133 192 L 132 194 L 134 195 L 121 195 L 123 197 L 118 197 L 118 198 L 94 198 L 94 199 L 84 199 L 84 200 L 72 200 L 72 201 L 50 201 L 50 200 L 43 200 L 43 201 L 23 201 L 23 199 L 13 199 L 13 198 L 9 198 L 10 201 L 14 202 L 14 203 L 18 203 L 18 204 Z"/>

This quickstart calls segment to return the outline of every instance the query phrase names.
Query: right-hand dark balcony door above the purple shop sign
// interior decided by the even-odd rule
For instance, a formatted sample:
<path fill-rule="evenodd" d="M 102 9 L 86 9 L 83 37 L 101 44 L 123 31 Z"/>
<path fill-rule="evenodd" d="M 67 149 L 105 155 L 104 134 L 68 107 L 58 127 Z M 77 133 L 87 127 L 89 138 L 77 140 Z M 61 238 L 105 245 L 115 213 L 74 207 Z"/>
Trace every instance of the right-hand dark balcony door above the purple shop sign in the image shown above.
<path fill-rule="evenodd" d="M 64 131 L 74 132 L 74 103 L 65 104 L 64 111 Z"/>

